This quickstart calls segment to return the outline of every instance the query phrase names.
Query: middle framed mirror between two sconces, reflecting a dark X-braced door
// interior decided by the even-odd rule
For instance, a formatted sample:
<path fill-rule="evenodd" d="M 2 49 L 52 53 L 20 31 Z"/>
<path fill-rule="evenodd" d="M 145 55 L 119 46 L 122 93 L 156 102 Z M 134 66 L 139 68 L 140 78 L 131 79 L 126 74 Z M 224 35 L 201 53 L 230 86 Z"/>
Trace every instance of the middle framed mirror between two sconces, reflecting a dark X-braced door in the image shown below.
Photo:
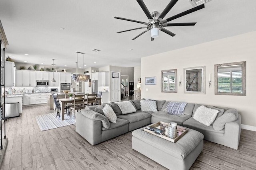
<path fill-rule="evenodd" d="M 205 66 L 184 68 L 184 93 L 205 94 Z"/>

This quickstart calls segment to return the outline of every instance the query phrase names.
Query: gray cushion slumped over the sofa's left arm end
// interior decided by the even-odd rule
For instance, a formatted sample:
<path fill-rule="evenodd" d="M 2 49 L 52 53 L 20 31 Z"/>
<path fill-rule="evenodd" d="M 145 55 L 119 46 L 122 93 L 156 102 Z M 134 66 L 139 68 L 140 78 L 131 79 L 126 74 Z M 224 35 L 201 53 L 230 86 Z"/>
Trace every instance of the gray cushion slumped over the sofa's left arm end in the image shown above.
<path fill-rule="evenodd" d="M 82 109 L 81 113 L 89 119 L 100 120 L 102 123 L 102 127 L 106 129 L 110 128 L 110 122 L 108 121 L 108 118 L 106 116 L 90 109 Z"/>

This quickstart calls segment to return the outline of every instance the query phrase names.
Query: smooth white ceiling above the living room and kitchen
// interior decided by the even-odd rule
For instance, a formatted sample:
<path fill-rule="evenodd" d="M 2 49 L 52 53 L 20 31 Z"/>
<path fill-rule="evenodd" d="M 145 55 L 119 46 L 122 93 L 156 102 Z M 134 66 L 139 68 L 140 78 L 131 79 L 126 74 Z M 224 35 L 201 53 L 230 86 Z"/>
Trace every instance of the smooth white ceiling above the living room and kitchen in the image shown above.
<path fill-rule="evenodd" d="M 160 13 L 169 2 L 144 0 L 150 12 Z M 86 67 L 138 66 L 141 57 L 256 31 L 255 6 L 256 0 L 212 0 L 204 9 L 170 21 L 197 22 L 195 26 L 168 27 L 176 36 L 160 31 L 154 41 L 150 31 L 131 40 L 144 29 L 116 33 L 144 25 L 115 16 L 148 22 L 136 0 L 0 0 L 0 20 L 9 43 L 6 55 L 17 62 L 50 65 L 55 59 L 57 66 L 76 68 L 79 51 L 86 53 Z M 188 0 L 179 0 L 164 19 L 190 8 Z M 78 66 L 83 67 L 81 54 Z"/>

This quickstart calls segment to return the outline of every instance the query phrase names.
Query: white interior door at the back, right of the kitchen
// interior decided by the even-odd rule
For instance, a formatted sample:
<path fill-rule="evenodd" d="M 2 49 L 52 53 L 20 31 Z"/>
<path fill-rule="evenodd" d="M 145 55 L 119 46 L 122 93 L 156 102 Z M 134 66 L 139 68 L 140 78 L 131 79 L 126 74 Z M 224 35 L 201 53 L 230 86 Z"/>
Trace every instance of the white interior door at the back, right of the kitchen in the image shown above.
<path fill-rule="evenodd" d="M 120 72 L 111 72 L 111 102 L 120 102 L 120 96 Z"/>

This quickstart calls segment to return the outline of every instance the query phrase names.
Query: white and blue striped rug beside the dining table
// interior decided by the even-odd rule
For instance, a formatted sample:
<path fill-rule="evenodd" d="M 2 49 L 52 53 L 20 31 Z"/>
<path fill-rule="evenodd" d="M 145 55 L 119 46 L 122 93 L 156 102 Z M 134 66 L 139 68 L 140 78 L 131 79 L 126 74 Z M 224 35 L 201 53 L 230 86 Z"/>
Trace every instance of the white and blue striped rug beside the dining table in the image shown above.
<path fill-rule="evenodd" d="M 65 119 L 64 121 L 62 121 L 61 115 L 59 119 L 59 117 L 56 117 L 56 113 L 47 113 L 43 115 L 37 115 L 36 121 L 41 131 L 73 125 L 76 123 L 76 120 L 74 119 L 74 117 L 69 117 L 67 115 L 64 115 L 64 117 Z"/>

